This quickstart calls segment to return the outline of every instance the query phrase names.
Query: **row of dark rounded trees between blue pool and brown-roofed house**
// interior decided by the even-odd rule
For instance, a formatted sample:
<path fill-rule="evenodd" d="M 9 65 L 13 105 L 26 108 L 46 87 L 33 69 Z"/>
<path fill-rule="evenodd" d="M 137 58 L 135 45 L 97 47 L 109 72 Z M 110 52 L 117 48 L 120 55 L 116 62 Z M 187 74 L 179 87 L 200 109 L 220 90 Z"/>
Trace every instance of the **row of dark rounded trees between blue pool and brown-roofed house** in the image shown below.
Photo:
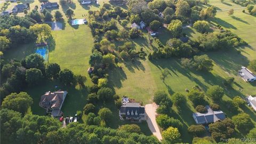
<path fill-rule="evenodd" d="M 3 64 L 3 63 L 1 63 Z M 43 81 L 43 78 L 53 80 L 59 79 L 62 84 L 84 86 L 86 77 L 82 75 L 74 75 L 69 69 L 60 69 L 57 63 L 49 63 L 45 66 L 44 59 L 39 54 L 30 54 L 21 62 L 14 60 L 6 63 L 1 69 L 2 76 L 7 78 L 6 82 L 1 87 L 1 98 L 11 92 L 20 92 L 25 87 L 38 85 Z"/>

